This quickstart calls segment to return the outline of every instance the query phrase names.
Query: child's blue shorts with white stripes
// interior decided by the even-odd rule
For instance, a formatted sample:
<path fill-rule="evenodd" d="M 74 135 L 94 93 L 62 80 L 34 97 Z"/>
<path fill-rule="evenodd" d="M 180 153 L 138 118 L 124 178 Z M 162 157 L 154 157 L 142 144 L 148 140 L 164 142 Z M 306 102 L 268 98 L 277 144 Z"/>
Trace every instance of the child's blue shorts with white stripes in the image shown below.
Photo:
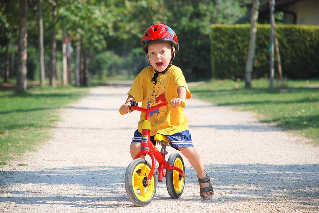
<path fill-rule="evenodd" d="M 178 147 L 189 147 L 193 146 L 191 142 L 191 134 L 189 134 L 189 130 L 178 132 L 173 135 L 165 135 L 167 136 L 170 146 L 179 150 Z M 154 136 L 150 138 L 151 142 L 155 146 L 156 141 L 154 140 Z M 141 143 L 142 142 L 142 134 L 136 130 L 134 132 L 134 137 L 132 138 L 132 143 Z"/>

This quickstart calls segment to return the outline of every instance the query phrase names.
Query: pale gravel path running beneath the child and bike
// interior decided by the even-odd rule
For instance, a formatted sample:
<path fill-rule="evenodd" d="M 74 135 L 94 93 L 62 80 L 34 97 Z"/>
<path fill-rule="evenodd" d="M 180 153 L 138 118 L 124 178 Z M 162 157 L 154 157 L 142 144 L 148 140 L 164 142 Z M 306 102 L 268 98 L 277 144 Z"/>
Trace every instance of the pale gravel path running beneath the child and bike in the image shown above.
<path fill-rule="evenodd" d="M 257 122 L 252 113 L 196 99 L 187 100 L 185 113 L 214 182 L 213 199 L 200 199 L 196 173 L 184 158 L 188 177 L 179 199 L 169 197 L 163 181 L 148 206 L 134 207 L 124 174 L 139 113 L 118 113 L 128 90 L 91 89 L 62 110 L 53 140 L 2 167 L 0 212 L 319 212 L 319 147 Z"/>

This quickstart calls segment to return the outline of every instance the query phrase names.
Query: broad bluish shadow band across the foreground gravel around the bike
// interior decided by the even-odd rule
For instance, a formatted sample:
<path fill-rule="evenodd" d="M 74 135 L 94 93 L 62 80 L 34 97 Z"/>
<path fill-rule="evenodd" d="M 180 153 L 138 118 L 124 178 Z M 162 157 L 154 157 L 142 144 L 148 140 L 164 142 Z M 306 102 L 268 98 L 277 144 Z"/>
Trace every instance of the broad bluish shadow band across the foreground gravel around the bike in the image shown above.
<path fill-rule="evenodd" d="M 304 165 L 205 165 L 215 186 L 212 202 L 258 201 L 273 203 L 291 200 L 306 204 L 310 210 L 319 206 L 319 164 Z M 186 168 L 187 169 L 187 168 Z M 125 193 L 126 167 L 70 167 L 41 171 L 1 171 L 5 180 L 0 202 L 17 204 L 63 204 L 86 208 L 118 208 L 132 205 Z M 196 173 L 186 170 L 189 184 L 196 185 Z M 15 191 L 15 184 L 25 184 Z M 33 185 L 30 190 L 28 185 Z M 34 186 L 35 185 L 35 186 Z M 57 185 L 57 186 L 55 186 Z M 57 187 L 58 189 L 56 189 Z M 158 186 L 159 187 L 159 186 Z M 54 188 L 54 191 L 50 191 Z M 197 194 L 194 197 L 197 200 Z M 166 200 L 156 195 L 154 200 Z M 189 202 L 181 197 L 180 202 Z M 110 201 L 114 201 L 113 203 Z"/>

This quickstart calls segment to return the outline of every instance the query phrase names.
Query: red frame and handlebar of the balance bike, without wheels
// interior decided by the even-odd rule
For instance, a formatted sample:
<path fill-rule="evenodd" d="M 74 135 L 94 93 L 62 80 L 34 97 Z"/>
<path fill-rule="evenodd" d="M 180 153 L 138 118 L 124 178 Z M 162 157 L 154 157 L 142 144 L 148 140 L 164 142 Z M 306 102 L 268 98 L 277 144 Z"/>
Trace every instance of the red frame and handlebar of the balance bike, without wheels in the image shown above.
<path fill-rule="evenodd" d="M 172 170 L 176 170 L 179 172 L 179 174 L 185 178 L 185 172 L 182 171 L 180 168 L 176 167 L 176 166 L 172 166 L 170 164 L 167 163 L 167 161 L 165 160 L 165 156 L 166 156 L 166 149 L 162 149 L 160 152 L 159 150 L 153 145 L 153 143 L 150 140 L 150 133 L 151 133 L 151 123 L 149 121 L 150 119 L 150 113 L 156 109 L 159 109 L 160 107 L 163 106 L 171 106 L 170 103 L 167 102 L 163 102 L 160 103 L 156 106 L 152 106 L 150 108 L 142 108 L 139 106 L 134 106 L 131 105 L 129 107 L 129 109 L 131 111 L 137 110 L 137 111 L 141 111 L 145 113 L 145 120 L 143 122 L 142 125 L 142 143 L 141 143 L 141 151 L 135 156 L 135 159 L 146 155 L 149 155 L 151 157 L 152 160 L 152 167 L 151 167 L 151 171 L 147 177 L 147 184 L 151 184 L 151 178 L 153 176 L 154 170 L 155 170 L 155 164 L 157 162 L 159 162 L 160 166 L 158 168 L 158 181 L 162 182 L 163 177 L 166 177 L 166 172 L 164 172 L 164 169 L 172 169 Z"/>

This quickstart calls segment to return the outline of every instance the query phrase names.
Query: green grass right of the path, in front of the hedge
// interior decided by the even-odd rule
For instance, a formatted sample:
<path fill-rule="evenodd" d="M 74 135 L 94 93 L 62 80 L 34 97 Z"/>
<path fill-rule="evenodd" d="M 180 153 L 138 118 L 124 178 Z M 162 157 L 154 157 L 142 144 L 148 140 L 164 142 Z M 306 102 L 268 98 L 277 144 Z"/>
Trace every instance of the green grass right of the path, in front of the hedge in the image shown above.
<path fill-rule="evenodd" d="M 244 82 L 214 80 L 191 87 L 193 97 L 218 106 L 253 111 L 262 122 L 275 123 L 319 144 L 319 81 L 286 81 L 280 89 L 269 89 L 266 79 L 253 80 L 252 89 Z"/>

